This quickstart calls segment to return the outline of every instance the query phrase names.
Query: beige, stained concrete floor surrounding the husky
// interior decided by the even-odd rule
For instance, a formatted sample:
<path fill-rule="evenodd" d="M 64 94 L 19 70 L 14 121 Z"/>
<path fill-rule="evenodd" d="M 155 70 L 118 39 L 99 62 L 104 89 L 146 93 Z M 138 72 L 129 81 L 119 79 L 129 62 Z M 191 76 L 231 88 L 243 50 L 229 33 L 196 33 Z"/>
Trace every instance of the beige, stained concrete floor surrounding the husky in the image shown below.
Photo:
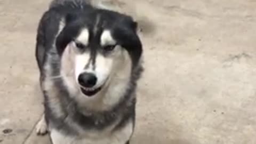
<path fill-rule="evenodd" d="M 1 144 L 49 143 L 33 131 L 43 110 L 35 34 L 49 2 L 0 0 Z M 132 143 L 255 144 L 256 1 L 135 4 L 153 27 L 141 34 L 146 71 Z"/>

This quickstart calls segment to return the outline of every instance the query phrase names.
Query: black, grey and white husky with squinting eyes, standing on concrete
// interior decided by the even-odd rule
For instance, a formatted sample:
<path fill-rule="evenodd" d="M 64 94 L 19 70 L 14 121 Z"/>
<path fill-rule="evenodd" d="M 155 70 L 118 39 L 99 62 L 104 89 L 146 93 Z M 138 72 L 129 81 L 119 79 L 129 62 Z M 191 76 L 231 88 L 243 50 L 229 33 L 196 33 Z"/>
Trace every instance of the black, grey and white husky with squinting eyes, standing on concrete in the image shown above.
<path fill-rule="evenodd" d="M 142 44 L 130 16 L 86 0 L 55 0 L 38 26 L 44 95 L 38 134 L 53 144 L 127 144 L 135 124 Z"/>

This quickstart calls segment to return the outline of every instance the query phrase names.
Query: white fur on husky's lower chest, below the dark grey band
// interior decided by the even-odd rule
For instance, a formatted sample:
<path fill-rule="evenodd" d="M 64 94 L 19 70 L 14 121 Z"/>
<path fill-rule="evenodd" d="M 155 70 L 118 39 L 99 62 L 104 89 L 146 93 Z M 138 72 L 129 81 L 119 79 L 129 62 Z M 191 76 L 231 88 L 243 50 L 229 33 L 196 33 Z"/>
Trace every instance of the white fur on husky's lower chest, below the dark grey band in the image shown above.
<path fill-rule="evenodd" d="M 114 132 L 87 131 L 79 137 L 70 137 L 52 129 L 51 139 L 53 144 L 125 144 L 131 138 L 132 131 L 132 122 Z"/>

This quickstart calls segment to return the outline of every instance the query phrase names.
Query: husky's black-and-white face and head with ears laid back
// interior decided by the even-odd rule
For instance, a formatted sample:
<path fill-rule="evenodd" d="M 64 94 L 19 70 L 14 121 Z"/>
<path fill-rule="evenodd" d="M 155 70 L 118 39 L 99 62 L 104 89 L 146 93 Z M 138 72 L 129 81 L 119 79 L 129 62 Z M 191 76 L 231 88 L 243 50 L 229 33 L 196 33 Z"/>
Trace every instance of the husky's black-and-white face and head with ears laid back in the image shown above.
<path fill-rule="evenodd" d="M 68 14 L 64 25 L 56 46 L 69 86 L 87 97 L 110 85 L 117 93 L 124 91 L 142 53 L 137 23 L 126 15 L 99 10 Z"/>

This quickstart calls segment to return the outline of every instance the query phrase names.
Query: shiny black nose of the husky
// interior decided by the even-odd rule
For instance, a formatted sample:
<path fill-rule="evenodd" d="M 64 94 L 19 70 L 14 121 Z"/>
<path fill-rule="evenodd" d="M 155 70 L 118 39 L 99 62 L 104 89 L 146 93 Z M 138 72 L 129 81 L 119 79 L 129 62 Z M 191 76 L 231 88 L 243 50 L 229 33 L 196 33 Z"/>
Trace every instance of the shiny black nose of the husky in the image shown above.
<path fill-rule="evenodd" d="M 83 73 L 78 76 L 78 83 L 84 87 L 93 87 L 97 83 L 97 77 L 91 73 Z"/>

